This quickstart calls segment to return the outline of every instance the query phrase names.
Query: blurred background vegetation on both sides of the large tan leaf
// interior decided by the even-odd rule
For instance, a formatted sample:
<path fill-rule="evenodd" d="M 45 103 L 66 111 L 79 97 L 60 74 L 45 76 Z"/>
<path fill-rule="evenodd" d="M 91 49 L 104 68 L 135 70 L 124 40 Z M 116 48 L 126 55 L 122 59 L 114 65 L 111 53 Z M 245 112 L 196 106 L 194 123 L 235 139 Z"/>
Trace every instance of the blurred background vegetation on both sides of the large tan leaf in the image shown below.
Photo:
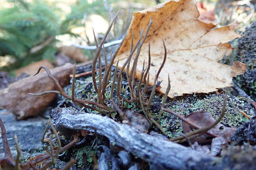
<path fill-rule="evenodd" d="M 54 61 L 61 46 L 72 43 L 93 45 L 92 27 L 100 38 L 99 33 L 104 34 L 118 10 L 120 15 L 108 41 L 120 39 L 125 35 L 134 11 L 163 1 L 166 0 L 2 0 L 0 71 L 11 71 L 41 59 Z M 250 6 L 250 0 L 197 2 L 203 2 L 202 9 L 215 9 L 215 21 L 220 25 L 233 22 L 240 14 L 243 14 L 241 20 L 247 18 L 247 23 L 255 18 L 254 5 Z M 244 10 L 237 13 L 239 5 L 244 4 Z M 90 52 L 84 52 L 90 55 Z"/>

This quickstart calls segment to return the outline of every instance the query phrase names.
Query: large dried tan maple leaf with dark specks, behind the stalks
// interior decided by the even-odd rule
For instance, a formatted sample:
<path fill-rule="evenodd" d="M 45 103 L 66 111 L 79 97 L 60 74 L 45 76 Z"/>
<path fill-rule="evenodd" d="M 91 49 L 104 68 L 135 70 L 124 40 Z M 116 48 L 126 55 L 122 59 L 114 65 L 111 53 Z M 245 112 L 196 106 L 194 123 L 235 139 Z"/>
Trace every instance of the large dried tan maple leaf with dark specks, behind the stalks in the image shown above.
<path fill-rule="evenodd" d="M 231 45 L 225 42 L 240 35 L 234 31 L 234 24 L 213 29 L 213 23 L 198 17 L 199 12 L 193 0 L 168 1 L 135 12 L 128 34 L 115 59 L 120 60 L 119 68 L 130 54 L 132 31 L 133 42 L 136 42 L 140 30 L 146 28 L 152 18 L 152 26 L 139 56 L 135 74 L 137 78 L 141 76 L 143 60 L 149 64 L 147 61 L 150 42 L 152 63 L 149 85 L 153 84 L 154 76 L 163 61 L 164 40 L 168 54 L 159 76 L 159 80 L 163 80 L 159 90 L 161 93 L 165 93 L 168 86 L 168 74 L 171 78 L 169 97 L 183 93 L 209 93 L 217 88 L 232 86 L 232 77 L 242 74 L 247 65 L 235 62 L 228 66 L 218 61 L 224 54 L 232 51 Z"/>

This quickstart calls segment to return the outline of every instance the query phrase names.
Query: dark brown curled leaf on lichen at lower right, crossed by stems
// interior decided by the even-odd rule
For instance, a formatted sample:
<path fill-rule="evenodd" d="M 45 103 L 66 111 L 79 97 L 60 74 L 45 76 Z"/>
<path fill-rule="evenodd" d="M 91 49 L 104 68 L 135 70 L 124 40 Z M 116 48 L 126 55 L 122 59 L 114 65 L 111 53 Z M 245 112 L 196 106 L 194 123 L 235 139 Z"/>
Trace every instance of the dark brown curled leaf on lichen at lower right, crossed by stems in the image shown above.
<path fill-rule="evenodd" d="M 212 125 L 216 120 L 212 117 L 211 113 L 207 111 L 194 112 L 186 117 L 187 120 L 191 121 L 198 127 L 208 127 Z M 188 123 L 182 121 L 183 130 L 186 133 L 194 130 Z M 225 127 L 221 123 L 218 123 L 215 127 L 211 128 L 208 132 L 215 135 L 221 136 L 224 139 L 230 140 L 231 136 L 235 133 L 236 127 Z M 199 144 L 209 144 L 213 136 L 203 134 L 201 136 L 191 139 L 191 142 L 198 142 Z"/>

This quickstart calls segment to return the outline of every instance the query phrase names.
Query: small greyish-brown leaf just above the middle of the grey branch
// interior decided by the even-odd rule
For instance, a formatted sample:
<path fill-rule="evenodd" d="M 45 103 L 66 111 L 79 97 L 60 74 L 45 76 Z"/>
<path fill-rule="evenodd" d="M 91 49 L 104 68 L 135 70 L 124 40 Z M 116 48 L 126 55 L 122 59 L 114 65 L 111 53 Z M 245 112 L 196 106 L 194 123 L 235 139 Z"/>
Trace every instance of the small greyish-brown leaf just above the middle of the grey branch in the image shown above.
<path fill-rule="evenodd" d="M 151 127 L 150 121 L 143 115 L 134 113 L 132 110 L 123 111 L 133 127 L 148 132 Z"/>

